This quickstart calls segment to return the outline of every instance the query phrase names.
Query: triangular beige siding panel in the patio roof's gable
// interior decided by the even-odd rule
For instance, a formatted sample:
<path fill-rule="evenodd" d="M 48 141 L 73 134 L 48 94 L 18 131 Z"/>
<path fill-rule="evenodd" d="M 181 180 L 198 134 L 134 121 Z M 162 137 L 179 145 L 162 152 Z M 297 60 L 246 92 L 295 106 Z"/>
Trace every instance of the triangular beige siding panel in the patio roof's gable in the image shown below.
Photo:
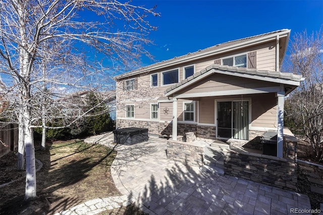
<path fill-rule="evenodd" d="M 276 85 L 278 86 L 278 84 Z M 270 86 L 276 86 L 276 85 L 266 81 L 252 80 L 248 78 L 234 77 L 234 76 L 224 75 L 224 74 L 213 74 L 181 90 L 177 94 L 251 89 L 251 88 L 260 88 L 260 87 L 270 87 Z"/>

